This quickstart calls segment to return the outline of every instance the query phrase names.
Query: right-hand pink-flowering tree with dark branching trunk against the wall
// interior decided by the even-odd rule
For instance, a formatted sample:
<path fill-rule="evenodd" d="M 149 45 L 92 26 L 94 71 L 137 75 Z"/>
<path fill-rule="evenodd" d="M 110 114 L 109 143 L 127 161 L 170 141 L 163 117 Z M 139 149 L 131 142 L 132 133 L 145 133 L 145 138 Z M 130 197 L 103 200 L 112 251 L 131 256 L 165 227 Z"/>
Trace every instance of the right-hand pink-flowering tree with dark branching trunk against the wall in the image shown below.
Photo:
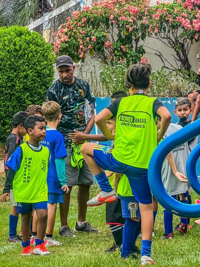
<path fill-rule="evenodd" d="M 175 66 L 172 66 L 160 51 L 158 55 L 164 67 L 171 70 L 191 69 L 188 54 L 193 41 L 199 41 L 200 9 L 193 4 L 200 3 L 199 0 L 177 0 L 173 4 L 160 3 L 150 9 L 148 15 L 149 36 L 156 38 L 169 48 L 174 49 L 176 56 Z M 166 62 L 169 66 L 166 66 Z M 174 64 L 173 64 L 174 65 Z"/>

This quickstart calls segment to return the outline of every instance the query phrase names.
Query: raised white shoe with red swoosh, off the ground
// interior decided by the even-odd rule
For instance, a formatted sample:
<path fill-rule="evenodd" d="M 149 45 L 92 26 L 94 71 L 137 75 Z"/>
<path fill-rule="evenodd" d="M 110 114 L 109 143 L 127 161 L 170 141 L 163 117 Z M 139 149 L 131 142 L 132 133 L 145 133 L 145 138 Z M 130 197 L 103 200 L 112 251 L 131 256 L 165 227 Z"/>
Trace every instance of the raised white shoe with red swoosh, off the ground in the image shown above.
<path fill-rule="evenodd" d="M 104 203 L 110 203 L 115 200 L 117 200 L 118 197 L 116 195 L 115 189 L 113 189 L 111 192 L 104 192 L 101 191 L 98 195 L 96 195 L 94 198 L 87 201 L 87 206 L 99 206 Z"/>

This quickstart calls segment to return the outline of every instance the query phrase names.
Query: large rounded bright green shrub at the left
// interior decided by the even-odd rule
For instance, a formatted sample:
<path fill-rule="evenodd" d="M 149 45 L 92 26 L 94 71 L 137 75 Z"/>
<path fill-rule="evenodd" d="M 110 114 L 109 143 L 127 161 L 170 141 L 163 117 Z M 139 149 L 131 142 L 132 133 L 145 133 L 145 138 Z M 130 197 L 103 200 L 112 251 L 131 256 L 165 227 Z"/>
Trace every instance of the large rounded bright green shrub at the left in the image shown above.
<path fill-rule="evenodd" d="M 0 141 L 11 131 L 13 115 L 42 104 L 54 78 L 52 46 L 25 27 L 0 28 Z"/>

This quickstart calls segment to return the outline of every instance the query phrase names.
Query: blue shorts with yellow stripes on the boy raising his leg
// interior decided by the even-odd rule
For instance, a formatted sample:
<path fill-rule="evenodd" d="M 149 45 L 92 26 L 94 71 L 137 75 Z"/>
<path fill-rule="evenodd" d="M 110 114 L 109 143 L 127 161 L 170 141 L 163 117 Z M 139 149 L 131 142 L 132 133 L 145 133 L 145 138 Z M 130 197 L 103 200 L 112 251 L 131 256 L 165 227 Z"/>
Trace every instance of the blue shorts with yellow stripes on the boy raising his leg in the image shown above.
<path fill-rule="evenodd" d="M 138 202 L 141 204 L 152 203 L 148 169 L 136 168 L 119 162 L 112 156 L 112 147 L 109 146 L 96 145 L 93 155 L 96 164 L 103 170 L 123 173 L 128 177 L 132 194 Z"/>

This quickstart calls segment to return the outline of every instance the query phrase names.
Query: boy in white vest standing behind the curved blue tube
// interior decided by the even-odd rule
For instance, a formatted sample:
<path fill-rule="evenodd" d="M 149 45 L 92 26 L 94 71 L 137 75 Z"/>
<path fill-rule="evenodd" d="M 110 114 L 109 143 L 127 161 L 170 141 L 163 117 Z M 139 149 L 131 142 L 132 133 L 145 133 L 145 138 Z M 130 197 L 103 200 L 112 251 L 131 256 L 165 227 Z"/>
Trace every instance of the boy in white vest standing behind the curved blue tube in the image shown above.
<path fill-rule="evenodd" d="M 179 122 L 176 124 L 170 123 L 165 135 L 163 138 L 174 134 L 175 132 L 179 131 L 182 127 L 191 123 L 189 120 L 189 116 L 192 112 L 191 102 L 188 100 L 187 97 L 179 97 L 175 103 L 175 110 L 174 113 L 179 117 Z M 197 145 L 198 136 L 194 139 L 180 145 L 177 148 L 174 148 L 171 152 L 171 156 L 174 158 L 174 162 L 178 172 L 182 173 L 186 176 L 186 162 L 187 158 L 192 151 L 192 149 Z M 170 154 L 168 155 L 170 156 Z M 165 189 L 173 198 L 176 199 L 176 195 L 179 195 L 180 202 L 188 204 L 188 197 L 191 200 L 189 195 L 189 184 L 187 180 L 179 181 L 172 168 L 169 166 L 168 157 L 165 159 L 162 165 L 162 181 L 165 186 Z M 191 204 L 191 202 L 190 202 Z M 161 237 L 162 239 L 171 239 L 174 237 L 173 233 L 173 214 L 164 210 L 164 225 L 165 225 L 165 234 Z M 187 232 L 187 225 L 188 219 L 187 218 L 180 218 L 180 223 L 176 227 L 177 231 L 181 234 L 186 234 Z"/>

